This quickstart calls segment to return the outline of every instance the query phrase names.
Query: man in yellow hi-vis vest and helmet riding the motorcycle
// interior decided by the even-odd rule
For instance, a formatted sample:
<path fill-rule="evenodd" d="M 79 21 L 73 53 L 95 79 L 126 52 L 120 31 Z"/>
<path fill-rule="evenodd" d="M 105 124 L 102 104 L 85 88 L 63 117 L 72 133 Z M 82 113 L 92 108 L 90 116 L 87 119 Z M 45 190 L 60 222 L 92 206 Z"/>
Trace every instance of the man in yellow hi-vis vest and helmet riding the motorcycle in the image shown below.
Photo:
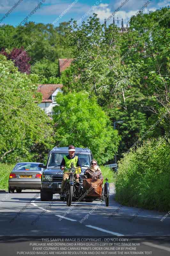
<path fill-rule="evenodd" d="M 69 169 L 71 167 L 71 163 L 73 163 L 74 167 L 80 166 L 81 167 L 81 161 L 80 158 L 78 156 L 75 155 L 75 147 L 73 145 L 70 145 L 68 148 L 68 155 L 63 157 L 63 160 L 61 161 L 60 164 L 60 169 L 63 171 L 63 180 L 62 180 L 62 184 L 61 184 L 61 194 L 60 196 L 64 196 L 63 192 L 64 192 L 64 188 L 65 188 L 65 183 L 66 183 L 66 179 L 68 179 L 70 172 L 67 170 L 64 170 L 64 167 L 66 167 L 67 169 Z M 76 174 L 76 182 L 79 182 L 79 174 Z"/>

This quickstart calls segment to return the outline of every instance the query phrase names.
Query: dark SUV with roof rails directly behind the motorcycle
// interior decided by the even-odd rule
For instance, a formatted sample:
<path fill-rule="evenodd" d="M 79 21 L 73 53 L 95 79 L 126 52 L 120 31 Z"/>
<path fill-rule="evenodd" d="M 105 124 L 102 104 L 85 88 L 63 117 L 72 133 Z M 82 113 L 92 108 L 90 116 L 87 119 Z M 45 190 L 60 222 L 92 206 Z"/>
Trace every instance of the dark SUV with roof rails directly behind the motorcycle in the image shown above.
<path fill-rule="evenodd" d="M 60 164 L 63 156 L 68 155 L 68 148 L 55 147 L 50 151 L 46 166 L 40 164 L 39 167 L 45 168 L 41 177 L 41 201 L 52 200 L 53 194 L 61 193 L 61 183 L 63 171 Z M 93 156 L 89 148 L 75 148 L 75 155 L 81 160 L 81 175 L 90 166 Z"/>

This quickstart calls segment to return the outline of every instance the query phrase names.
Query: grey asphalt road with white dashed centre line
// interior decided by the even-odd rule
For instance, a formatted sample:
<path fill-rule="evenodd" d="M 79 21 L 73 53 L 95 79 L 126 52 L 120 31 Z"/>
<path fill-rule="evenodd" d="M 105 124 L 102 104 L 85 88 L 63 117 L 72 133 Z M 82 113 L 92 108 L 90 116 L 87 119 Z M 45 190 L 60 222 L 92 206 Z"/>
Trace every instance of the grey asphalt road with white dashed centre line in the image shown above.
<path fill-rule="evenodd" d="M 0 249 L 5 252 L 6 243 L 19 236 L 142 236 L 141 248 L 146 247 L 145 251 L 151 251 L 151 255 L 170 255 L 170 240 L 166 237 L 170 237 L 170 215 L 161 221 L 166 212 L 120 205 L 114 201 L 113 188 L 110 192 L 109 207 L 100 201 L 73 202 L 73 207 L 68 207 L 58 195 L 51 202 L 41 202 L 39 191 L 0 193 Z M 25 246 L 21 240 L 17 240 L 20 246 Z"/>

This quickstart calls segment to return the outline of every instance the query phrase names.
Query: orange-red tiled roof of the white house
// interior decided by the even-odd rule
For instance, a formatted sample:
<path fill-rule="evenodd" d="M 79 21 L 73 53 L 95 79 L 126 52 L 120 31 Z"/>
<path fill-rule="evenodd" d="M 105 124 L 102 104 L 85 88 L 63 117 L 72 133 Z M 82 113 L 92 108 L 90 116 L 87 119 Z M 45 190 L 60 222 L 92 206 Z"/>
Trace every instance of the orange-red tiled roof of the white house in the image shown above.
<path fill-rule="evenodd" d="M 42 102 L 52 102 L 50 99 L 51 94 L 53 94 L 57 88 L 61 89 L 62 87 L 63 84 L 40 84 L 37 92 L 41 92 L 43 94 Z"/>

